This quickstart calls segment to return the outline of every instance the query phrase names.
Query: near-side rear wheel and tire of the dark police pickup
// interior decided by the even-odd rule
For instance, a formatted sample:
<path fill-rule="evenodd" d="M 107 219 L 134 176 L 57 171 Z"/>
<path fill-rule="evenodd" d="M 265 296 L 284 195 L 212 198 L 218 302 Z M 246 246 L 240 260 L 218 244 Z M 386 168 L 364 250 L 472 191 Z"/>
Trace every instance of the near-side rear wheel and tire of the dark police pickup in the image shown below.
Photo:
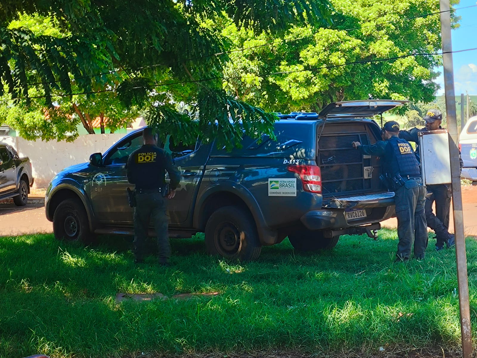
<path fill-rule="evenodd" d="M 262 245 L 253 217 L 237 206 L 217 209 L 207 221 L 207 253 L 239 261 L 259 258 Z"/>

